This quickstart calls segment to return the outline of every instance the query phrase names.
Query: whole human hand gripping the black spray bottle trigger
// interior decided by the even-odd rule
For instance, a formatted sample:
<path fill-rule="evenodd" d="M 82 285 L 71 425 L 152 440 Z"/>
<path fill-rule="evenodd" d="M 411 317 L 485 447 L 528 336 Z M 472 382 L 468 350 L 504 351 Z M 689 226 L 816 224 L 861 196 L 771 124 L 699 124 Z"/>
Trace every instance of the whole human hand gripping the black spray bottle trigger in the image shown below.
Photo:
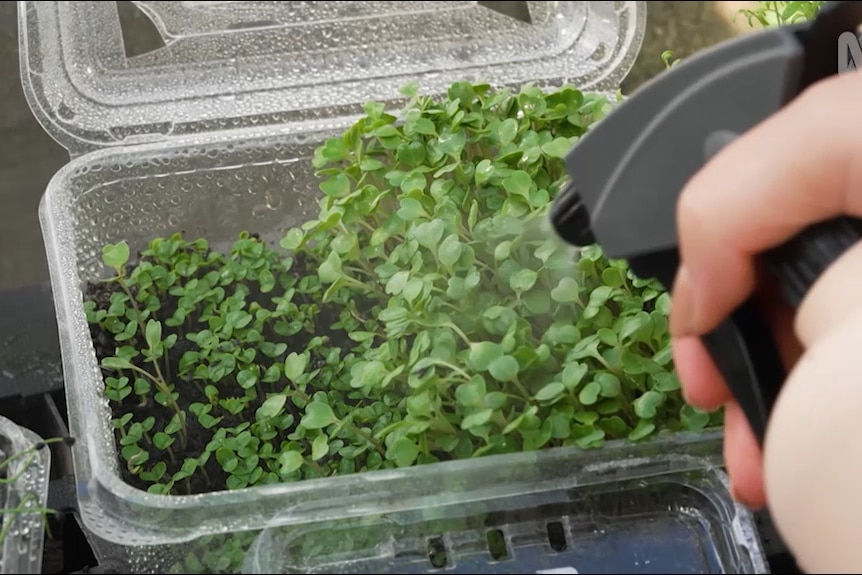
<path fill-rule="evenodd" d="M 862 570 L 862 243 L 830 266 L 795 315 L 778 303 L 754 255 L 817 221 L 862 216 L 860 94 L 858 73 L 806 90 L 713 158 L 678 206 L 671 334 L 686 399 L 702 409 L 725 406 L 735 496 L 751 507 L 768 496 L 800 565 L 817 572 Z M 790 373 L 765 457 L 699 341 L 755 292 L 767 295 Z"/>

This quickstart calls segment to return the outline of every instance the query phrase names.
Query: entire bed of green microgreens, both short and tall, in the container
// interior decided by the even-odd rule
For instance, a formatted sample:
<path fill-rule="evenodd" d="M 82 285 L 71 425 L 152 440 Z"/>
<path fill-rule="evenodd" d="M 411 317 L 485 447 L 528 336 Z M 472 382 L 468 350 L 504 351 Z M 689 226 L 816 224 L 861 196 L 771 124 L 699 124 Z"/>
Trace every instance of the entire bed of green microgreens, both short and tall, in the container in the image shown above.
<path fill-rule="evenodd" d="M 668 294 L 547 231 L 563 156 L 610 109 L 457 82 L 369 103 L 313 158 L 317 216 L 281 250 L 157 238 L 86 303 L 130 474 L 237 489 L 699 430 Z"/>

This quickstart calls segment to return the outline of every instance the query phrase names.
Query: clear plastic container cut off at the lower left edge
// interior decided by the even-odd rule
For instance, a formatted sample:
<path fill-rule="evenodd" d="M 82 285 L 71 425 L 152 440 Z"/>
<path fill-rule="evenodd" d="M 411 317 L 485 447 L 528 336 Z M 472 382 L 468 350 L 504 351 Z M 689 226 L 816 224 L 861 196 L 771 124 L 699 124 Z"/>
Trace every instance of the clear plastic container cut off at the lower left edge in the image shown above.
<path fill-rule="evenodd" d="M 51 450 L 39 448 L 42 438 L 20 425 L 0 417 L 0 509 L 5 512 L 0 530 L 0 572 L 41 573 L 45 521 L 41 510 L 48 501 L 48 474 Z M 8 483 L 6 483 L 8 482 Z"/>

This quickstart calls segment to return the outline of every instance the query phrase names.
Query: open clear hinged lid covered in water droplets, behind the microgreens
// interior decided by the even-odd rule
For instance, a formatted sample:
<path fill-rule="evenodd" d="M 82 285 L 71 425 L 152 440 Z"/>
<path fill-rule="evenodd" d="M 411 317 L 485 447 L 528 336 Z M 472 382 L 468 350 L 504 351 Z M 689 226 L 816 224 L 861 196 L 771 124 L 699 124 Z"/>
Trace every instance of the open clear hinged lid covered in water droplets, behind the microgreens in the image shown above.
<path fill-rule="evenodd" d="M 532 23 L 482 4 L 526 4 Z M 412 81 L 426 94 L 457 80 L 615 90 L 640 50 L 645 4 L 25 1 L 21 74 L 36 117 L 76 156 L 340 123 Z"/>

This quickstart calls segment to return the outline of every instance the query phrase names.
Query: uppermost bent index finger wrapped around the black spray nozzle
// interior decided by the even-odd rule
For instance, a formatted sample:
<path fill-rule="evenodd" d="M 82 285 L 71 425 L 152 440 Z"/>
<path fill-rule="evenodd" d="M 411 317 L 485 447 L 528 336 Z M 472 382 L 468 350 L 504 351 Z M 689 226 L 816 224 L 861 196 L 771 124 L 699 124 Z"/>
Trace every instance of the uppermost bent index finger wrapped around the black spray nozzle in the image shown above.
<path fill-rule="evenodd" d="M 818 221 L 862 215 L 860 95 L 859 73 L 824 80 L 691 179 L 677 209 L 674 336 L 706 333 L 738 307 L 754 289 L 758 253 Z"/>

